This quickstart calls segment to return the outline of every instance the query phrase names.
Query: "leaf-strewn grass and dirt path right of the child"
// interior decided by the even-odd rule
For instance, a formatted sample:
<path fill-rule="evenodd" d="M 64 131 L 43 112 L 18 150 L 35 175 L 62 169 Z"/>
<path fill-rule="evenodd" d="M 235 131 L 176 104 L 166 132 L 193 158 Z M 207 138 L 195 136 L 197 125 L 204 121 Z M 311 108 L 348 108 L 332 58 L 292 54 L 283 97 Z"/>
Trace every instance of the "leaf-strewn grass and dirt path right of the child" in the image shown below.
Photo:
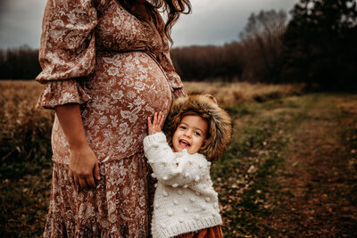
<path fill-rule="evenodd" d="M 357 95 L 228 111 L 235 138 L 213 170 L 228 237 L 357 235 Z"/>

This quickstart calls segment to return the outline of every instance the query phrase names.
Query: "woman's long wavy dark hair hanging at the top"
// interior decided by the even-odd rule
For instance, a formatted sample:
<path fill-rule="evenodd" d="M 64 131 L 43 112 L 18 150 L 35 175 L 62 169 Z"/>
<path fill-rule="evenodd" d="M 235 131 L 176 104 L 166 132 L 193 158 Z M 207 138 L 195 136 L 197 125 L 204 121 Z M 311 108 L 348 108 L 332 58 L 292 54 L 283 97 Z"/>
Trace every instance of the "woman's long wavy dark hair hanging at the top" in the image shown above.
<path fill-rule="evenodd" d="M 120 4 L 125 7 L 129 12 L 133 15 L 137 16 L 137 18 L 142 18 L 138 16 L 135 12 L 132 12 L 130 9 L 134 5 L 136 0 L 118 0 Z M 154 16 L 154 23 L 156 28 L 160 28 L 158 26 L 158 22 L 160 22 L 161 16 L 159 15 L 159 9 L 162 9 L 162 12 L 167 14 L 167 21 L 165 23 L 164 32 L 166 37 L 169 38 L 170 43 L 173 44 L 173 40 L 170 37 L 171 28 L 179 20 L 179 14 L 188 14 L 191 13 L 191 3 L 189 0 L 147 0 L 145 2 L 146 9 L 149 14 Z"/>

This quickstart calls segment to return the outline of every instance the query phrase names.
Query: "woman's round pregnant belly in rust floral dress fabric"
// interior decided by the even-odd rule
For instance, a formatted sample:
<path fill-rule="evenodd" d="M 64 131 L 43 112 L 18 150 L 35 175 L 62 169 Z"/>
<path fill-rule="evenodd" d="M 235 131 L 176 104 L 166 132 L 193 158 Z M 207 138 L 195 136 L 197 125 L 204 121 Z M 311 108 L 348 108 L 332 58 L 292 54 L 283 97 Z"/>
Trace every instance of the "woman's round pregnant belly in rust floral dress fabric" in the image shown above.
<path fill-rule="evenodd" d="M 155 111 L 165 115 L 170 111 L 167 79 L 158 64 L 142 52 L 97 56 L 95 72 L 84 82 L 84 90 L 91 100 L 81 105 L 83 126 L 101 162 L 142 152 L 147 117 Z M 54 134 L 61 136 L 54 135 L 53 140 L 63 140 L 55 125 L 56 122 Z M 56 151 L 61 153 L 62 149 L 54 148 L 54 158 Z"/>

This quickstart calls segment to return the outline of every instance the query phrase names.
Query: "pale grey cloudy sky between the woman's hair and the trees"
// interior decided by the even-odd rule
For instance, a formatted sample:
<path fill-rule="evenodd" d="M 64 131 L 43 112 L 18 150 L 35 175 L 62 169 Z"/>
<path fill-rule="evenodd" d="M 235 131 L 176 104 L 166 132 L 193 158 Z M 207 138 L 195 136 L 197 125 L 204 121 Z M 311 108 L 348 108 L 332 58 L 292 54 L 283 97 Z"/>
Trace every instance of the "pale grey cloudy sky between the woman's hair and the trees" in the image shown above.
<path fill-rule="evenodd" d="M 283 9 L 298 0 L 193 0 L 193 13 L 184 15 L 172 29 L 174 46 L 223 45 L 238 40 L 252 12 Z"/>

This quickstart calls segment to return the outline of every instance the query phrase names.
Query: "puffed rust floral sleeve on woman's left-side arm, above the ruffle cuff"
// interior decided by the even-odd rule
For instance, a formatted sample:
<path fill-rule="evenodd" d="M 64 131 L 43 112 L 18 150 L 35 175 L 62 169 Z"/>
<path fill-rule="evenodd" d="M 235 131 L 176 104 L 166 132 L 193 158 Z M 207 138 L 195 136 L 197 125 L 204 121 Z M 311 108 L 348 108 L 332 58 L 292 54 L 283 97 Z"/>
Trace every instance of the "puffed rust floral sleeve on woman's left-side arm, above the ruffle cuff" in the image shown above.
<path fill-rule="evenodd" d="M 79 78 L 95 68 L 95 0 L 47 1 L 36 80 Z"/>

